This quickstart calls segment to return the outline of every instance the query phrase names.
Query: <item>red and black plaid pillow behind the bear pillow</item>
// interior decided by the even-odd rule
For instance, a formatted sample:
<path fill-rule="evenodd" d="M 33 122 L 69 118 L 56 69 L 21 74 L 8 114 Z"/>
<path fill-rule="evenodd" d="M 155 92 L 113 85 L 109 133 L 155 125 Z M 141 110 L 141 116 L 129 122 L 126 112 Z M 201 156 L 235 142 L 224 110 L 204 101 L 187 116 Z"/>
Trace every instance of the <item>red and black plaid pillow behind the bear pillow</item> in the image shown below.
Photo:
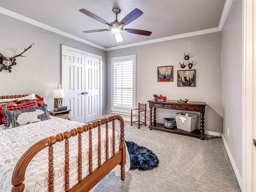
<path fill-rule="evenodd" d="M 37 107 L 36 102 L 24 102 L 22 104 L 16 104 L 14 102 L 5 102 L 0 105 L 0 124 L 5 124 L 4 110 L 17 110 L 17 109 L 28 109 Z"/>

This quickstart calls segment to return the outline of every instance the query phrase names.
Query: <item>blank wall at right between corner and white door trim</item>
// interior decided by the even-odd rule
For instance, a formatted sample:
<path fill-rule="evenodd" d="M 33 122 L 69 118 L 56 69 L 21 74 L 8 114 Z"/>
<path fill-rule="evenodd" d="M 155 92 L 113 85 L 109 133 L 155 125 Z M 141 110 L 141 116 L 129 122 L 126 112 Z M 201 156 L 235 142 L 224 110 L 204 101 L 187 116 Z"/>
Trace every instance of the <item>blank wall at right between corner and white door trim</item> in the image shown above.
<path fill-rule="evenodd" d="M 242 178 L 242 1 L 234 0 L 222 29 L 223 139 Z M 229 128 L 229 134 L 228 134 Z"/>

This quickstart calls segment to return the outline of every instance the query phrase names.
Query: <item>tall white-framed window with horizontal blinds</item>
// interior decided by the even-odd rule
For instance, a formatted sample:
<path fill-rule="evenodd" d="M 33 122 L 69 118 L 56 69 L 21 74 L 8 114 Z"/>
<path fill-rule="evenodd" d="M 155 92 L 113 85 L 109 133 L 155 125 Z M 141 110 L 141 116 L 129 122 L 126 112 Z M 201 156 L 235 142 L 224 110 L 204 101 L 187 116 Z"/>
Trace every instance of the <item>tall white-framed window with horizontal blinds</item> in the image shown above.
<path fill-rule="evenodd" d="M 130 114 L 135 106 L 136 55 L 113 57 L 111 110 L 115 114 Z"/>

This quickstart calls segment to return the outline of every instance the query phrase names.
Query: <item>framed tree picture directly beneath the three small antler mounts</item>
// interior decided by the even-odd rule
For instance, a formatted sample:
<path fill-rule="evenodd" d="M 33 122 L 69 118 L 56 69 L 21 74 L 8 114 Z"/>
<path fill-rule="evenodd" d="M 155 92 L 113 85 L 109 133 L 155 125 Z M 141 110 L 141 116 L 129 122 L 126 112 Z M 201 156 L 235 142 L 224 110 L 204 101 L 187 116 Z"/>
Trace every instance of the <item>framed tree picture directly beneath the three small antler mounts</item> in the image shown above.
<path fill-rule="evenodd" d="M 178 70 L 177 71 L 177 86 L 184 87 L 196 86 L 196 70 Z"/>

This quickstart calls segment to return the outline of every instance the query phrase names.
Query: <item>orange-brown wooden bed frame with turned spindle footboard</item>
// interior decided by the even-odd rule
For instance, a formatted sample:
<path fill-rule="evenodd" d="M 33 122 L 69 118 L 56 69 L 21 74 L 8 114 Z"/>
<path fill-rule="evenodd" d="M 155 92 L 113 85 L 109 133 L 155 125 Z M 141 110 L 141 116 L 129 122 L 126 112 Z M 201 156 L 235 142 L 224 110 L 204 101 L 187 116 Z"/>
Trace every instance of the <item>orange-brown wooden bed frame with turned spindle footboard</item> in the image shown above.
<path fill-rule="evenodd" d="M 27 95 L 12 95 L 12 96 L 0 96 L 0 99 L 5 98 L 19 98 Z M 37 98 L 41 99 L 40 96 L 36 95 Z M 118 120 L 120 123 L 120 146 L 119 151 L 115 151 L 115 122 Z M 112 122 L 112 141 L 108 141 L 108 122 Z M 106 162 L 101 163 L 101 128 L 100 126 L 106 124 Z M 98 168 L 92 171 L 92 129 L 98 128 Z M 82 179 L 82 136 L 83 132 L 89 132 L 89 175 Z M 69 187 L 69 144 L 68 139 L 70 137 L 77 136 L 78 138 L 78 184 Z M 124 165 L 126 163 L 126 152 L 124 144 L 124 120 L 121 116 L 110 116 L 89 124 L 85 124 L 82 127 L 74 128 L 70 131 L 57 134 L 56 136 L 50 136 L 45 138 L 33 146 L 31 146 L 20 158 L 14 172 L 12 174 L 12 192 L 22 192 L 25 188 L 25 172 L 28 164 L 32 158 L 42 149 L 48 147 L 48 191 L 54 191 L 54 177 L 53 177 L 53 145 L 57 142 L 65 143 L 65 191 L 68 192 L 87 192 L 91 190 L 100 180 L 102 180 L 111 170 L 113 170 L 118 164 L 121 165 L 121 179 L 125 178 Z M 113 156 L 108 157 L 108 142 L 112 142 Z"/>

